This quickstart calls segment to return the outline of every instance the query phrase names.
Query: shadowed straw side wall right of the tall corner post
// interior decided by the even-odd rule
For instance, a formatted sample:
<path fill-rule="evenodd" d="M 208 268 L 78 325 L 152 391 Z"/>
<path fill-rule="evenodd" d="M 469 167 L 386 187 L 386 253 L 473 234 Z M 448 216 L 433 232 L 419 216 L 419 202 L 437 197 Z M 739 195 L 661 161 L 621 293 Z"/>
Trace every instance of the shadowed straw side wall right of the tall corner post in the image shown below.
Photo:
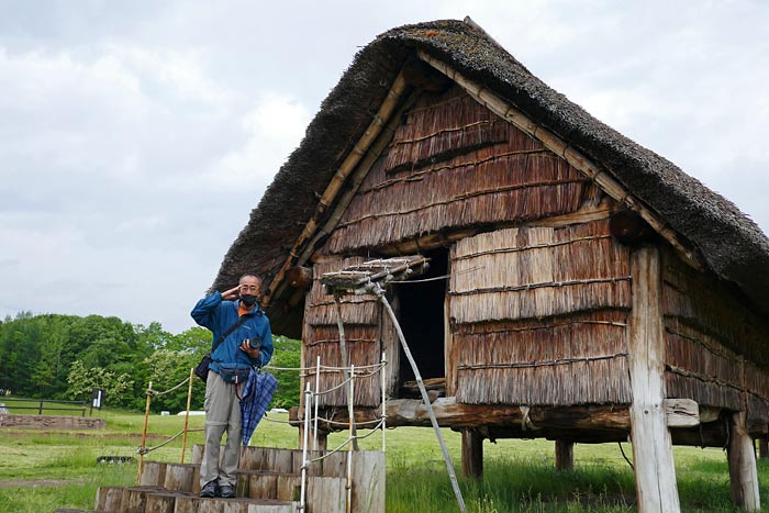
<path fill-rule="evenodd" d="M 739 292 L 712 275 L 664 256 L 666 384 L 671 398 L 746 410 L 747 422 L 769 422 L 769 322 Z"/>

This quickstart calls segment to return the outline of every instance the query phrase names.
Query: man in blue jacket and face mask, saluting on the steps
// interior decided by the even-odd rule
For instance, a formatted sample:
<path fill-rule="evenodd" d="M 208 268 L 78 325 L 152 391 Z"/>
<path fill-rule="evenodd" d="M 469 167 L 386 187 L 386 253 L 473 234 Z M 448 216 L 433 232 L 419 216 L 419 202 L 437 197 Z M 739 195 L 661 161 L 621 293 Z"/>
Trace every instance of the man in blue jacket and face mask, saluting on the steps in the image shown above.
<path fill-rule="evenodd" d="M 243 275 L 239 285 L 198 301 L 192 319 L 213 332 L 209 377 L 205 381 L 205 453 L 200 467 L 200 497 L 235 497 L 235 471 L 241 457 L 239 397 L 252 367 L 272 356 L 272 331 L 256 304 L 261 279 Z M 227 442 L 220 461 L 220 444 Z"/>

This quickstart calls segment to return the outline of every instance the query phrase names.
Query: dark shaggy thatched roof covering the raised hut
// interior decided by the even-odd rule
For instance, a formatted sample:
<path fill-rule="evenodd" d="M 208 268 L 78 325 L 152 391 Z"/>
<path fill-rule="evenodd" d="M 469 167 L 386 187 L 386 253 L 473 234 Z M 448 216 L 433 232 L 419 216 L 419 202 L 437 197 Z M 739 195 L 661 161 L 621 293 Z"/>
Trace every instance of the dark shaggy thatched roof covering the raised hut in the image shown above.
<path fill-rule="evenodd" d="M 677 233 L 720 278 L 769 312 L 769 239 L 737 207 L 676 165 L 598 121 L 532 75 L 484 32 L 460 21 L 390 30 L 364 47 L 309 125 L 227 252 L 212 286 L 246 270 L 276 276 L 313 216 L 317 199 L 360 138 L 403 64 L 422 51 L 481 82 L 605 168 Z M 276 332 L 293 333 L 301 311 L 271 298 Z M 301 305 L 299 305 L 301 309 Z M 282 330 L 282 332 L 281 332 Z"/>

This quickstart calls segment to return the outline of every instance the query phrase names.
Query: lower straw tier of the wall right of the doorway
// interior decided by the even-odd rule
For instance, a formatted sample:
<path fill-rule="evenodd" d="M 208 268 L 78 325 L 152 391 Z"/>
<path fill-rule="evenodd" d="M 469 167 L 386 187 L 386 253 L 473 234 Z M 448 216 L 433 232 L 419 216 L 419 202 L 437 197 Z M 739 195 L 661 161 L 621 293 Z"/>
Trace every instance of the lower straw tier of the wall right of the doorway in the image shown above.
<path fill-rule="evenodd" d="M 454 335 L 457 400 L 470 404 L 629 403 L 627 313 L 466 324 Z"/>

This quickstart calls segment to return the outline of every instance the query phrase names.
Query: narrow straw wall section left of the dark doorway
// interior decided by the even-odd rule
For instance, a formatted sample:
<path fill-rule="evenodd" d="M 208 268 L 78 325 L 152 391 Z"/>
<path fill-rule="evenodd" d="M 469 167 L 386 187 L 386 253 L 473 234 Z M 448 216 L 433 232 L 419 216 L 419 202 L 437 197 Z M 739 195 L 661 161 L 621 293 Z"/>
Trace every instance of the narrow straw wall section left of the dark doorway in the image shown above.
<path fill-rule="evenodd" d="M 339 331 L 336 323 L 336 305 L 333 295 L 323 292 L 319 281 L 324 272 L 339 270 L 343 267 L 361 264 L 363 257 L 334 258 L 315 264 L 313 285 L 308 293 L 304 315 L 303 366 L 309 368 L 305 380 L 315 387 L 315 365 L 317 356 L 322 366 L 341 367 Z M 371 295 L 348 295 L 342 299 L 342 320 L 345 330 L 348 365 L 368 366 L 379 363 L 381 357 L 380 316 L 381 306 Z M 363 372 L 369 373 L 371 369 Z M 358 372 L 356 371 L 356 375 Z M 381 402 L 380 376 L 372 375 L 355 381 L 355 404 L 377 406 Z M 331 390 L 343 382 L 341 372 L 321 371 L 320 390 Z M 319 398 L 321 406 L 346 406 L 347 395 L 344 387 Z"/>

